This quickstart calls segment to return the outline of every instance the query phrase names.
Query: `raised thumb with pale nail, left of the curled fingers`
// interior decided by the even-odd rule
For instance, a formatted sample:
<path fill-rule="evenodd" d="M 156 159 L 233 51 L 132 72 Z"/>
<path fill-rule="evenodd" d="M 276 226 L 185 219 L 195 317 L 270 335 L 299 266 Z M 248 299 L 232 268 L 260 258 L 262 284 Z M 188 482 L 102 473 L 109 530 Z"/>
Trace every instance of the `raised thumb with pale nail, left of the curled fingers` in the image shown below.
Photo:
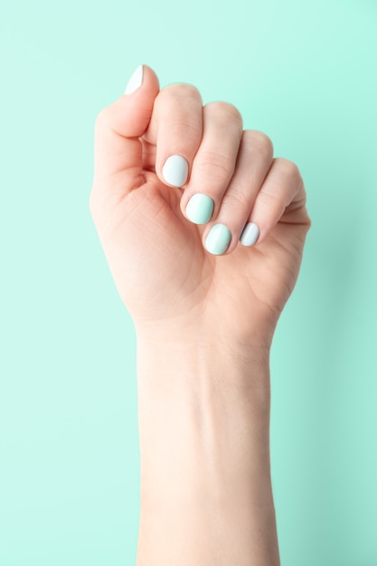
<path fill-rule="evenodd" d="M 125 94 L 99 112 L 94 136 L 93 195 L 111 191 L 123 197 L 145 182 L 139 137 L 148 127 L 158 91 L 156 73 L 142 65 L 128 81 Z"/>

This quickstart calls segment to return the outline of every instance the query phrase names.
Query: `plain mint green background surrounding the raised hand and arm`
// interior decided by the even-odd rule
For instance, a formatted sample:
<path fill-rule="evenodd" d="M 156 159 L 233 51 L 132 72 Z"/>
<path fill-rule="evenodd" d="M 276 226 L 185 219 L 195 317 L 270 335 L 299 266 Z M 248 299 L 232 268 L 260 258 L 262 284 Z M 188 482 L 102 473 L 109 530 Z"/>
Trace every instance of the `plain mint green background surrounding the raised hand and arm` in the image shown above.
<path fill-rule="evenodd" d="M 140 62 L 302 171 L 272 354 L 282 565 L 375 566 L 377 3 L 2 0 L 0 26 L 0 566 L 135 561 L 135 337 L 88 197 L 94 118 Z"/>

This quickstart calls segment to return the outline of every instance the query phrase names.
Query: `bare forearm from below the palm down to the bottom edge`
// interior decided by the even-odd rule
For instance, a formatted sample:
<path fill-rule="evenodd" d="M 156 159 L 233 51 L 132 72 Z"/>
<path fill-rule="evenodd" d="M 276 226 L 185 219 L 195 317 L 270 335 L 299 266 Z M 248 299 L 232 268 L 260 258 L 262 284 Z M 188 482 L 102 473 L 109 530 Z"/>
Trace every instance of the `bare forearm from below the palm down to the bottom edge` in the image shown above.
<path fill-rule="evenodd" d="M 138 339 L 137 566 L 278 566 L 269 359 Z"/>

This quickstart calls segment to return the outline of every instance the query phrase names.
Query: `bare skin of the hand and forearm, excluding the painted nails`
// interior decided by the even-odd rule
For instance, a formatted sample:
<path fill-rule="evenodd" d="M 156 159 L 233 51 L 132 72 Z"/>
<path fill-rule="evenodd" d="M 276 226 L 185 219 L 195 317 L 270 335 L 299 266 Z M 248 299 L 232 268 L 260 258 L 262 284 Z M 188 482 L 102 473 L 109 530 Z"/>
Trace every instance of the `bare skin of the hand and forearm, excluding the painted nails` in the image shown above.
<path fill-rule="evenodd" d="M 269 349 L 310 227 L 304 184 L 237 108 L 143 71 L 99 113 L 90 195 L 137 330 L 137 565 L 277 566 Z M 171 155 L 189 164 L 184 187 L 162 175 Z M 202 226 L 184 212 L 194 193 L 215 203 Z M 259 240 L 245 247 L 250 221 Z M 217 222 L 232 234 L 221 256 L 203 246 Z"/>

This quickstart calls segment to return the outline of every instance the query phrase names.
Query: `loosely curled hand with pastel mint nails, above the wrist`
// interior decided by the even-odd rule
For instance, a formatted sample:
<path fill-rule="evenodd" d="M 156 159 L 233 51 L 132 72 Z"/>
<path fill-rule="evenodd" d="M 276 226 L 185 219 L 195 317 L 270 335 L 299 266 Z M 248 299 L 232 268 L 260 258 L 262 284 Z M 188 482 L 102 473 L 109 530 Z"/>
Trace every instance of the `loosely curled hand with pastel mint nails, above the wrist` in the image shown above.
<path fill-rule="evenodd" d="M 310 221 L 297 166 L 236 108 L 137 69 L 99 113 L 90 210 L 137 328 L 269 347 Z"/>

